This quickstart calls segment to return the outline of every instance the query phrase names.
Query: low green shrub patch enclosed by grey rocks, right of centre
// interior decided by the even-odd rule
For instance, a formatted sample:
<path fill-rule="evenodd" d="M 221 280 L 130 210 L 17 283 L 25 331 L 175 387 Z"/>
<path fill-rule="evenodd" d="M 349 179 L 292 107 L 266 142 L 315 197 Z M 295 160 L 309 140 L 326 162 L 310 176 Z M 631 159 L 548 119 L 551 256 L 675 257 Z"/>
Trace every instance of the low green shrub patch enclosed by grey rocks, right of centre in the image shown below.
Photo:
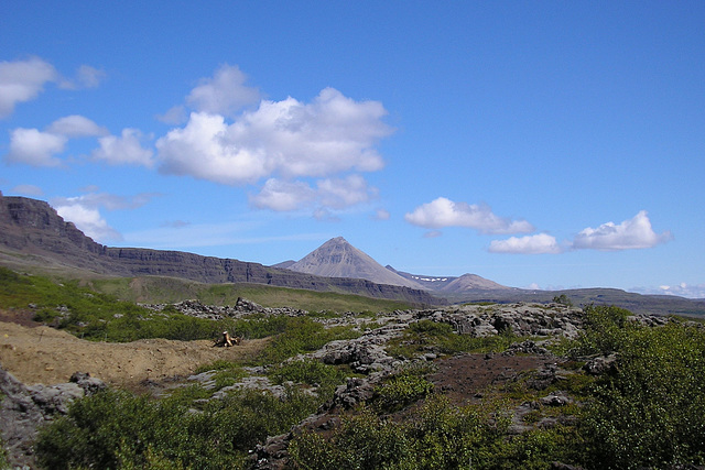
<path fill-rule="evenodd" d="M 389 342 L 387 351 L 398 358 L 415 358 L 424 352 L 456 354 L 459 352 L 499 352 L 523 338 L 511 331 L 500 335 L 474 338 L 458 335 L 448 324 L 420 320 L 412 324 L 403 336 Z"/>

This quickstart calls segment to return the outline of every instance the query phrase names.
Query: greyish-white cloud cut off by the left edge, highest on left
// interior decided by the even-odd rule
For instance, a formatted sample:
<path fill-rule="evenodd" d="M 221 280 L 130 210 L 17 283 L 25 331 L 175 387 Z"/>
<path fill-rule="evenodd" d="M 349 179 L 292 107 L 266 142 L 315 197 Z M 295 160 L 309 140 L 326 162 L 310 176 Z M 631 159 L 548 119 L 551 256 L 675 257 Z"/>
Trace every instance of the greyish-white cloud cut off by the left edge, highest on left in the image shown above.
<path fill-rule="evenodd" d="M 56 79 L 54 67 L 39 57 L 0 62 L 0 118 L 10 116 L 17 103 L 36 98 L 44 84 Z"/>

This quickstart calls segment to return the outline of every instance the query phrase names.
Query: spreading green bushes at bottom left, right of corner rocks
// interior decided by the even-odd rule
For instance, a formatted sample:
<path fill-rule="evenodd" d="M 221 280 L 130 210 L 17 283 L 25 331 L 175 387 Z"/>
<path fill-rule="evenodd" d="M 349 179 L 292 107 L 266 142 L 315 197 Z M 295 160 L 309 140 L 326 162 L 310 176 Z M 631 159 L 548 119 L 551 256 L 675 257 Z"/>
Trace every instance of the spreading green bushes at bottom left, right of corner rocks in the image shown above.
<path fill-rule="evenodd" d="M 108 390 L 44 427 L 35 449 L 43 468 L 242 468 L 247 451 L 288 430 L 318 406 L 289 390 L 284 400 L 250 391 L 208 402 L 198 413 Z"/>

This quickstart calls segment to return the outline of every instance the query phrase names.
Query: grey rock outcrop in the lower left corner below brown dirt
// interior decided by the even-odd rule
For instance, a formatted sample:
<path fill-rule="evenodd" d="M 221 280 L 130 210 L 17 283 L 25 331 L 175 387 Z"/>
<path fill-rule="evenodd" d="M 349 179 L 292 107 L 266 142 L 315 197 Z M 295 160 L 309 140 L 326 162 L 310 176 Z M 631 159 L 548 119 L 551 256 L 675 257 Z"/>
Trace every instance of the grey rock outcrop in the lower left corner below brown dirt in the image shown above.
<path fill-rule="evenodd" d="M 76 372 L 69 383 L 53 386 L 25 386 L 0 368 L 0 433 L 11 466 L 34 467 L 32 445 L 37 430 L 45 423 L 68 412 L 77 398 L 105 389 L 102 381 L 87 373 Z"/>

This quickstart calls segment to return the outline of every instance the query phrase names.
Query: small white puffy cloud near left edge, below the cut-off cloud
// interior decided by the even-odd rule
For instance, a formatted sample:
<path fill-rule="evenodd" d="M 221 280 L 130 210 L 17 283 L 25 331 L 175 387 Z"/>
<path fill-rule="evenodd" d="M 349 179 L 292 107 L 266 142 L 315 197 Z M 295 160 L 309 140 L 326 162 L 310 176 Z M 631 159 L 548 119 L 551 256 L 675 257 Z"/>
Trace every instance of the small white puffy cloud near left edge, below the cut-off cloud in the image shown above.
<path fill-rule="evenodd" d="M 58 166 L 55 154 L 64 151 L 68 139 L 37 129 L 18 128 L 10 132 L 10 151 L 6 160 L 32 166 Z"/>

